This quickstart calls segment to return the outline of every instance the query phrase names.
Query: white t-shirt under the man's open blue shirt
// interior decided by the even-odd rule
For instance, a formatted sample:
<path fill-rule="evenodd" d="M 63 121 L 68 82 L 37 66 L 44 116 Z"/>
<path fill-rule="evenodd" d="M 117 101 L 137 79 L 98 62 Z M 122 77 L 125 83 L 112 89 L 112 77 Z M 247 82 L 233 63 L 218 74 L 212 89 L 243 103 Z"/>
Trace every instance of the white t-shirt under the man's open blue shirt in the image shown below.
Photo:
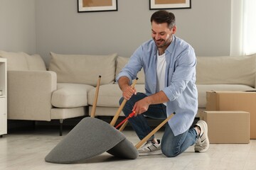
<path fill-rule="evenodd" d="M 166 74 L 166 57 L 165 53 L 163 55 L 159 55 L 157 52 L 157 64 L 156 64 L 156 92 L 164 89 L 164 81 Z M 166 103 L 164 103 L 166 104 Z"/>

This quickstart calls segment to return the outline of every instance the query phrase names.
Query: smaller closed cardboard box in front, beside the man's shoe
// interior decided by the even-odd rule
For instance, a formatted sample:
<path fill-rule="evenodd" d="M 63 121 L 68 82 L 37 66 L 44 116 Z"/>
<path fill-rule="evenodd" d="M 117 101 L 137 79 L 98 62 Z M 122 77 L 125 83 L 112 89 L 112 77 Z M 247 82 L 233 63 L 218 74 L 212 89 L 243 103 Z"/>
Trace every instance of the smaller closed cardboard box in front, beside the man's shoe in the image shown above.
<path fill-rule="evenodd" d="M 245 111 L 203 111 L 211 144 L 250 143 L 250 113 Z"/>

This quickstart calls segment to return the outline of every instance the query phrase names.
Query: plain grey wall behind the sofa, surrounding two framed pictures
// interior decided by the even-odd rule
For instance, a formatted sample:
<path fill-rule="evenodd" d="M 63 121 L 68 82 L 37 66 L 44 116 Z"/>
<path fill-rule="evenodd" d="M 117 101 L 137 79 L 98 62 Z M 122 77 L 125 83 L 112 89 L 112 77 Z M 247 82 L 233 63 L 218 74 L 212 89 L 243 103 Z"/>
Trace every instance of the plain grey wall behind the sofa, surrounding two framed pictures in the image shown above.
<path fill-rule="evenodd" d="M 77 0 L 0 0 L 0 50 L 130 57 L 151 38 L 148 0 L 117 0 L 118 11 L 78 13 Z M 196 55 L 230 54 L 231 0 L 192 0 L 176 15 L 176 35 Z"/>

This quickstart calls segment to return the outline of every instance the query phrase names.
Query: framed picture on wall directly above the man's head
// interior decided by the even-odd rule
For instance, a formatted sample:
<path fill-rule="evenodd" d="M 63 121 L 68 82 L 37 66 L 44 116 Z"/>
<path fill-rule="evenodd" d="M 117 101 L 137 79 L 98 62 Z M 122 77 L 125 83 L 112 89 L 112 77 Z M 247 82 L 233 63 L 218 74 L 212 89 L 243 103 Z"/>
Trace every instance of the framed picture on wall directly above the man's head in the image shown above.
<path fill-rule="evenodd" d="M 191 0 L 149 0 L 150 10 L 191 8 Z"/>

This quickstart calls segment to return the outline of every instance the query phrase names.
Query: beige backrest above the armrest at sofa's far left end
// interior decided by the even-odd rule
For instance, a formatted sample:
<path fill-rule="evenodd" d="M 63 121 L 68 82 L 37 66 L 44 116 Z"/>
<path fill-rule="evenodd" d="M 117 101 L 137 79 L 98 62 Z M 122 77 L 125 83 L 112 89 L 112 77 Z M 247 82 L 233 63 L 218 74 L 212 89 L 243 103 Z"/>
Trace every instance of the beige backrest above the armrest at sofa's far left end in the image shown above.
<path fill-rule="evenodd" d="M 46 71 L 46 64 L 40 55 L 28 55 L 25 52 L 6 52 L 0 50 L 0 57 L 7 59 L 8 71 Z"/>

